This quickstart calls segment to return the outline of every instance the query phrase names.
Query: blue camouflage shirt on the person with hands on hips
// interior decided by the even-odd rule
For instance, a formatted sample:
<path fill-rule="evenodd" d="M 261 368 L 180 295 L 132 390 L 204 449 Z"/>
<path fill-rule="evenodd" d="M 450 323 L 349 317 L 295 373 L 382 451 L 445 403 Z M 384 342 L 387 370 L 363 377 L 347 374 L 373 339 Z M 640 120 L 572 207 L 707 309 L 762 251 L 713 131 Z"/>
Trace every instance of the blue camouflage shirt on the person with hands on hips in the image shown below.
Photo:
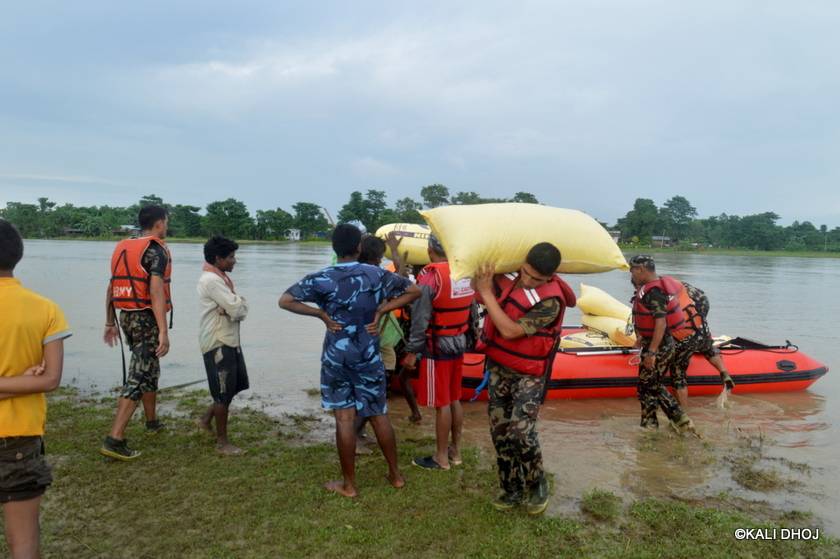
<path fill-rule="evenodd" d="M 315 303 L 344 326 L 324 336 L 321 362 L 325 367 L 363 372 L 383 369 L 379 338 L 367 332 L 376 309 L 399 297 L 411 282 L 370 264 L 339 263 L 309 274 L 289 289 L 297 301 Z"/>

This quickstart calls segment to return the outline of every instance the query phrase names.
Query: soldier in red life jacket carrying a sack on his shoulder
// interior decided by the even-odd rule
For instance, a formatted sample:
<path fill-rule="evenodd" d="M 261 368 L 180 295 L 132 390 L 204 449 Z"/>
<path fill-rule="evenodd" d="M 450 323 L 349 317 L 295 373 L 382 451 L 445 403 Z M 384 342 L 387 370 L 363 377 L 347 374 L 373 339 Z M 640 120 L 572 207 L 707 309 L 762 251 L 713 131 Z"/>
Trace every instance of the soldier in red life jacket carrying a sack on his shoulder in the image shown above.
<path fill-rule="evenodd" d="M 575 306 L 574 291 L 555 271 L 560 251 L 538 243 L 518 274 L 494 276 L 492 265 L 473 278 L 479 302 L 487 308 L 477 347 L 490 371 L 487 412 L 496 447 L 500 511 L 525 504 L 528 514 L 548 507 L 548 480 L 537 438 L 537 416 L 563 328 L 563 314 Z"/>

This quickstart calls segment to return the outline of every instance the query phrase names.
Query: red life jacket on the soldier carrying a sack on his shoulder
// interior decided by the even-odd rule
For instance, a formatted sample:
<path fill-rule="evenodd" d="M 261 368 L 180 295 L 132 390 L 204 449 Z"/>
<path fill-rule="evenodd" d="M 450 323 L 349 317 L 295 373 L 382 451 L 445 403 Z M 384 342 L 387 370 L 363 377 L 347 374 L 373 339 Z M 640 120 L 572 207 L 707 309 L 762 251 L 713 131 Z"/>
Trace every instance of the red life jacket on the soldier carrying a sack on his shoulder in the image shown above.
<path fill-rule="evenodd" d="M 551 324 L 541 328 L 534 335 L 515 340 L 504 339 L 490 317 L 486 317 L 478 351 L 499 365 L 519 373 L 534 376 L 546 374 L 551 366 L 549 360 L 553 358 L 557 349 L 557 338 L 563 329 L 563 314 L 567 307 L 574 307 L 577 301 L 575 292 L 557 275 L 536 289 L 516 287 L 519 281 L 516 274 L 496 276 L 494 281 L 499 293 L 499 306 L 511 320 L 519 320 L 537 303 L 547 299 L 557 299 L 560 302 L 560 312 Z"/>

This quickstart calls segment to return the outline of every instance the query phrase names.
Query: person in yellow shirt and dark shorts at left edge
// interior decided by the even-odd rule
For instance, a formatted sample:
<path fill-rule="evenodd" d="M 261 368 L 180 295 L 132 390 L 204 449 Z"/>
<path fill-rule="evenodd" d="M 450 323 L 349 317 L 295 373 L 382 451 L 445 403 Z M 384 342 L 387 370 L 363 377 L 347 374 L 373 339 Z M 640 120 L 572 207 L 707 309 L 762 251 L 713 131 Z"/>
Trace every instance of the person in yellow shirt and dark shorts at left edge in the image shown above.
<path fill-rule="evenodd" d="M 71 335 L 58 305 L 14 278 L 22 257 L 20 235 L 0 219 L 0 503 L 14 559 L 40 556 L 38 513 L 52 482 L 44 460 L 44 393 L 61 382 L 64 339 Z"/>

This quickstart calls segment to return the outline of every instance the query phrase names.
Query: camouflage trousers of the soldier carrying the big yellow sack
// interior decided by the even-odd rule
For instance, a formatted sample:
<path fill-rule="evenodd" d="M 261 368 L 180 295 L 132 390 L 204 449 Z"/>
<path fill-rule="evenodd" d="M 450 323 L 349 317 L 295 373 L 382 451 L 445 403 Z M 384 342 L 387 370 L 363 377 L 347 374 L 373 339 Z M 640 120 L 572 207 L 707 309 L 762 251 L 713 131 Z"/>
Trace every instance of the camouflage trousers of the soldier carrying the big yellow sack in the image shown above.
<path fill-rule="evenodd" d="M 496 447 L 499 484 L 508 494 L 530 491 L 544 477 L 537 416 L 543 377 L 490 369 L 490 437 Z"/>

